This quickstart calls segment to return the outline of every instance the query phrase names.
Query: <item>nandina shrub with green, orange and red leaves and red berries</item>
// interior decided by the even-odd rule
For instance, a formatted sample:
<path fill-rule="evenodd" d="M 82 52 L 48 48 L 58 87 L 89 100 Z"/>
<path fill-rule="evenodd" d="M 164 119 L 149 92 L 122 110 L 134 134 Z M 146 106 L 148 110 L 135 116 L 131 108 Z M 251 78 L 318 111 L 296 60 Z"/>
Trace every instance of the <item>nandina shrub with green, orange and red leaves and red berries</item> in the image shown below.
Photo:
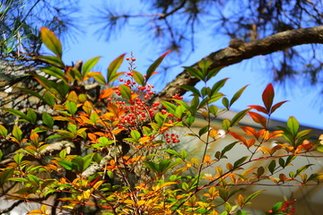
<path fill-rule="evenodd" d="M 31 73 L 42 89 L 21 90 L 46 108 L 3 108 L 17 120 L 11 127 L 0 125 L 2 142 L 14 146 L 9 153 L 0 153 L 1 193 L 8 200 L 39 202 L 39 209 L 29 214 L 247 214 L 245 207 L 264 190 L 246 195 L 241 185 L 322 182 L 321 173 L 308 170 L 313 164 L 284 172 L 299 157 L 319 158 L 310 153 L 321 146 L 310 139 L 310 130 L 299 131 L 292 116 L 285 127 L 269 131 L 270 116 L 285 102 L 274 104 L 272 84 L 262 94 L 264 106 L 251 105 L 223 120 L 224 134 L 236 141 L 214 151 L 210 148 L 223 133 L 212 122 L 229 111 L 247 87 L 228 99 L 220 92 L 228 79 L 208 86 L 220 68 L 210 68 L 207 60 L 185 67 L 205 86 L 182 86 L 191 92 L 190 103 L 179 95 L 159 101 L 148 81 L 168 53 L 144 75 L 135 71 L 134 56 L 126 58 L 128 71 L 118 72 L 125 55 L 118 56 L 105 78 L 92 71 L 100 57 L 67 66 L 59 39 L 46 28 L 41 36 L 53 52 L 38 56 L 48 64 L 40 68 L 42 73 Z M 262 128 L 240 126 L 246 115 Z M 192 128 L 196 117 L 205 121 L 197 132 Z M 21 129 L 25 125 L 28 129 Z M 177 150 L 185 144 L 179 128 L 190 131 L 190 142 L 202 142 L 200 153 Z M 275 145 L 267 144 L 273 140 Z M 231 159 L 229 152 L 238 146 L 245 152 Z M 250 168 L 260 160 L 271 161 Z M 54 201 L 45 202 L 50 196 Z M 267 213 L 278 214 L 289 206 L 278 203 Z"/>

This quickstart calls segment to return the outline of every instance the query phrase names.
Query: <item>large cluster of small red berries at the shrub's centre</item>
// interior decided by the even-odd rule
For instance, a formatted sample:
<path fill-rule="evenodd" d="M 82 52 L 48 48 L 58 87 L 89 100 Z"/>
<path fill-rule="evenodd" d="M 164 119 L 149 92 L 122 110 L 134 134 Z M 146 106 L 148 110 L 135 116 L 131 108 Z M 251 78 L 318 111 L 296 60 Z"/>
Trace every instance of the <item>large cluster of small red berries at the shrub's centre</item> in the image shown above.
<path fill-rule="evenodd" d="M 159 111 L 162 114 L 167 115 L 167 121 L 164 123 L 172 124 L 175 121 L 180 121 L 179 118 L 168 113 L 165 109 L 161 110 L 160 102 L 153 102 L 153 104 L 148 104 L 147 100 L 152 99 L 155 91 L 153 90 L 153 85 L 147 83 L 145 86 L 142 86 L 135 82 L 134 73 L 135 70 L 135 58 L 133 56 L 126 58 L 128 61 L 128 72 L 125 73 L 123 78 L 119 78 L 118 82 L 121 85 L 127 86 L 131 90 L 131 99 L 120 99 L 121 89 L 119 86 L 116 86 L 113 90 L 118 95 L 117 98 L 109 97 L 109 104 L 113 104 L 118 107 L 118 118 L 115 120 L 118 121 L 116 125 L 118 129 L 122 130 L 140 130 L 140 128 L 147 123 L 153 122 L 153 117 Z M 145 76 L 144 76 L 145 78 Z M 179 95 L 175 95 L 173 99 L 183 99 Z M 165 138 L 167 143 L 177 143 L 179 142 L 179 135 L 174 133 L 167 133 L 169 130 L 162 130 L 160 134 Z M 151 136 L 153 139 L 154 136 Z"/>

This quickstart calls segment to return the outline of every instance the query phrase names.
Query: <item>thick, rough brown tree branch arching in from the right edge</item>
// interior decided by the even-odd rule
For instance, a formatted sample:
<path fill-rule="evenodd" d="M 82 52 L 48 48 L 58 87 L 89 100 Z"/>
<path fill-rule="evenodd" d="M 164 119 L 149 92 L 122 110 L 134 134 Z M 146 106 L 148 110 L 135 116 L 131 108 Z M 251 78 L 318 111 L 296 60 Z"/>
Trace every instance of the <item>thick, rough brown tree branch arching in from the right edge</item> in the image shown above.
<path fill-rule="evenodd" d="M 238 43 L 236 43 L 236 41 L 238 41 Z M 211 60 L 212 64 L 209 68 L 211 70 L 220 66 L 237 64 L 254 56 L 264 56 L 284 50 L 288 47 L 295 47 L 303 44 L 323 44 L 323 26 L 286 30 L 264 39 L 257 39 L 247 43 L 235 39 L 235 41 L 231 42 L 229 47 L 225 47 L 209 56 L 205 56 L 202 60 Z M 198 63 L 193 64 L 192 67 L 197 68 L 197 64 Z M 179 73 L 172 82 L 168 83 L 153 100 L 167 100 L 177 93 L 183 95 L 186 90 L 180 88 L 180 86 L 194 86 L 197 82 L 199 82 L 199 80 L 196 79 L 196 77 L 184 70 Z"/>

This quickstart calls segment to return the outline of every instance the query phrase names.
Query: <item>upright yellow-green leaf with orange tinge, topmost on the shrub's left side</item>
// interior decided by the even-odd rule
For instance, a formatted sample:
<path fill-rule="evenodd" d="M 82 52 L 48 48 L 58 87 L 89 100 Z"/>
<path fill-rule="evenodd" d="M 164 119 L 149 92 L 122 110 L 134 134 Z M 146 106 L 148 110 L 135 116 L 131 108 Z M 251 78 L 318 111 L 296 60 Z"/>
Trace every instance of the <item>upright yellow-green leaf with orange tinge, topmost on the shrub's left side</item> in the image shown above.
<path fill-rule="evenodd" d="M 62 44 L 60 40 L 57 39 L 57 36 L 52 31 L 44 27 L 40 28 L 40 36 L 45 46 L 48 47 L 48 49 L 55 55 L 59 56 L 59 58 L 62 58 Z"/>

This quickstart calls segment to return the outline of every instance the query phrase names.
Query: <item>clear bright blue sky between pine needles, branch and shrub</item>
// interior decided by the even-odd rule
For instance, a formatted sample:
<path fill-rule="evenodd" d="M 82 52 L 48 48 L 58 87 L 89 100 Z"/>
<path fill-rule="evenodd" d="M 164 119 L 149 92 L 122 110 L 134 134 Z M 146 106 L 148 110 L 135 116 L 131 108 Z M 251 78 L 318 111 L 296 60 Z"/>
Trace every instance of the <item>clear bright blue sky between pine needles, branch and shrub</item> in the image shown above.
<path fill-rule="evenodd" d="M 101 56 L 97 70 L 105 74 L 109 63 L 117 56 L 132 51 L 137 59 L 135 64 L 137 71 L 145 73 L 149 64 L 153 62 L 158 56 L 161 56 L 163 51 L 159 48 L 159 44 L 147 42 L 144 30 L 133 27 L 126 27 L 117 35 L 113 36 L 109 41 L 105 41 L 104 35 L 99 39 L 99 35 L 95 34 L 98 26 L 91 24 L 92 16 L 96 15 L 96 11 L 92 5 L 96 4 L 100 7 L 101 1 L 80 1 L 83 30 L 85 35 L 80 35 L 77 42 L 69 42 L 65 45 L 64 59 L 66 64 L 76 62 L 79 59 L 84 61 L 94 57 Z M 122 4 L 127 8 L 140 7 L 138 0 L 123 0 Z M 127 3 L 127 4 L 126 4 Z M 135 22 L 134 22 L 135 23 Z M 182 71 L 181 66 L 189 66 L 196 63 L 198 60 L 210 53 L 217 51 L 222 47 L 227 47 L 228 39 L 221 39 L 220 37 L 210 37 L 210 33 L 201 31 L 196 35 L 196 51 L 189 57 L 188 61 L 180 66 L 174 67 L 171 71 L 166 73 L 159 73 L 152 84 L 158 85 L 158 89 L 162 89 L 166 82 L 170 82 L 176 74 Z M 279 55 L 277 55 L 279 56 Z M 176 57 L 176 53 L 166 57 L 163 64 L 172 64 L 171 58 Z M 121 70 L 127 71 L 127 62 L 125 61 Z M 234 64 L 224 68 L 218 76 L 214 77 L 213 82 L 219 81 L 223 78 L 230 78 L 222 92 L 229 96 L 229 99 L 235 91 L 240 90 L 244 85 L 249 84 L 245 93 L 240 100 L 233 105 L 232 109 L 242 110 L 248 105 L 262 105 L 261 94 L 271 80 L 270 71 L 266 67 L 265 56 L 257 56 L 246 60 L 240 64 Z M 164 82 L 161 82 L 164 80 Z M 323 129 L 323 114 L 319 113 L 319 106 L 315 105 L 315 98 L 323 97 L 319 95 L 319 88 L 304 88 L 299 84 L 301 80 L 294 80 L 289 82 L 284 87 L 278 86 L 274 83 L 275 88 L 275 103 L 282 100 L 290 100 L 281 108 L 277 109 L 273 114 L 273 118 L 286 121 L 289 116 L 295 116 L 301 125 L 309 125 L 316 128 Z M 197 86 L 201 86 L 198 84 Z M 323 104 L 321 104 L 323 105 Z"/>

